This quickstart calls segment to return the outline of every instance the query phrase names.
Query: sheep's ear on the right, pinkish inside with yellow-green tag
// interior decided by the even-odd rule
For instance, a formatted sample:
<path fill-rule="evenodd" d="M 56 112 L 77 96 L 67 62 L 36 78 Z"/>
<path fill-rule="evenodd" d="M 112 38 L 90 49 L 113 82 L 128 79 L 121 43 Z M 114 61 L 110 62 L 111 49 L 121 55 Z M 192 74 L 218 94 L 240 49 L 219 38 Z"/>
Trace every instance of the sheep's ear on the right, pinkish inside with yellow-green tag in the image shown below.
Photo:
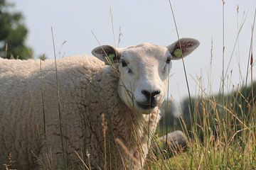
<path fill-rule="evenodd" d="M 177 40 L 173 44 L 167 46 L 167 48 L 171 53 L 171 60 L 179 60 L 181 57 L 186 57 L 193 52 L 193 50 L 196 50 L 199 44 L 200 42 L 193 38 L 181 38 L 180 40 Z"/>

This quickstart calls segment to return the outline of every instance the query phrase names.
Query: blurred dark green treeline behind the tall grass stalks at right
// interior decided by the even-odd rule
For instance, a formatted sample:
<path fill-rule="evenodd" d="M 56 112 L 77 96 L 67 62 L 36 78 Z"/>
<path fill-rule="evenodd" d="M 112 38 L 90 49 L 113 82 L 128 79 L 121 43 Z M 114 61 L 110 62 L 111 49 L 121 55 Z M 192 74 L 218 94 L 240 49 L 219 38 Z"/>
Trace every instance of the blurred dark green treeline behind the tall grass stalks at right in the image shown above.
<path fill-rule="evenodd" d="M 230 94 L 186 98 L 178 118 L 174 116 L 176 111 L 173 102 L 164 103 L 159 133 L 183 130 L 201 140 L 209 135 L 218 137 L 223 132 L 227 137 L 239 137 L 247 126 L 256 125 L 256 81 Z"/>

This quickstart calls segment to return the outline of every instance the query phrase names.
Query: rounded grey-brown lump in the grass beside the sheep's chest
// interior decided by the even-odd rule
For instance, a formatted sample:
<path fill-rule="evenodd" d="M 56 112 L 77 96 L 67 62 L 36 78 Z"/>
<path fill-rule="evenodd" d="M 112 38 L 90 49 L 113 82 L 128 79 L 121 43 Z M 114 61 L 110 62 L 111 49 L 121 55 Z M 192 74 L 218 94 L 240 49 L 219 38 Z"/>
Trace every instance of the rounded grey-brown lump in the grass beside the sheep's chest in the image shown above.
<path fill-rule="evenodd" d="M 187 141 L 186 135 L 180 130 L 176 130 L 159 137 L 158 142 L 152 142 L 151 150 L 156 156 L 156 159 L 159 159 L 159 157 L 169 159 L 178 153 L 185 152 Z"/>

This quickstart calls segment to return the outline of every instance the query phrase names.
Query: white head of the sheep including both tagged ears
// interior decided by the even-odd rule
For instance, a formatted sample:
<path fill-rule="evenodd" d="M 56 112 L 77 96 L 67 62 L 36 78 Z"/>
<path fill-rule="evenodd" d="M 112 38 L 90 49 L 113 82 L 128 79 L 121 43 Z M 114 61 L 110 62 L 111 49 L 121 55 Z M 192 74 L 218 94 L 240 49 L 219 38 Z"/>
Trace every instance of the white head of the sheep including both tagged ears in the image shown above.
<path fill-rule="evenodd" d="M 164 101 L 171 60 L 186 57 L 198 45 L 198 40 L 191 38 L 182 38 L 167 47 L 149 43 L 127 48 L 102 45 L 92 50 L 92 55 L 108 64 L 118 63 L 119 97 L 129 108 L 146 114 Z"/>

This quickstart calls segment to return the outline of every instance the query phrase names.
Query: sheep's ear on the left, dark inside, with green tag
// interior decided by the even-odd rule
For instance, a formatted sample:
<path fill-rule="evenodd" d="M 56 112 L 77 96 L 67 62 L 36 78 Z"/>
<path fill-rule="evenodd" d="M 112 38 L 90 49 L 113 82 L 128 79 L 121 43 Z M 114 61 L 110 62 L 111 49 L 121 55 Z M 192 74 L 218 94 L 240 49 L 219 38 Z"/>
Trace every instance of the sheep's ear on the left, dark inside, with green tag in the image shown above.
<path fill-rule="evenodd" d="M 121 57 L 121 50 L 111 45 L 101 45 L 92 50 L 92 55 L 110 65 L 118 62 Z"/>

